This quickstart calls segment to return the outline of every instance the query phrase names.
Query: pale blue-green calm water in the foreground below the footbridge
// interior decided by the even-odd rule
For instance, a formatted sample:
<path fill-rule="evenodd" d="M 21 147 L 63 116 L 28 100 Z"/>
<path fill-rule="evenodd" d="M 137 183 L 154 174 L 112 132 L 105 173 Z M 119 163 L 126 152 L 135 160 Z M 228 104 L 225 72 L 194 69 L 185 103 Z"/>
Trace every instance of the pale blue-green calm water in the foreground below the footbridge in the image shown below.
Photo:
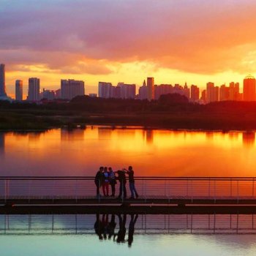
<path fill-rule="evenodd" d="M 102 219 L 102 215 L 99 217 Z M 121 218 L 123 217 L 122 215 Z M 124 236 L 120 243 L 117 242 L 120 231 L 118 217 L 115 218 L 115 239 L 112 236 L 100 240 L 94 230 L 94 222 L 97 219 L 94 215 L 0 216 L 0 254 L 255 255 L 255 235 L 246 234 L 256 232 L 249 229 L 252 227 L 252 215 L 239 217 L 241 221 L 238 222 L 238 230 L 236 216 L 217 216 L 214 228 L 214 216 L 192 218 L 191 215 L 140 215 L 135 222 L 134 232 L 130 230 L 131 217 L 127 215 Z M 131 236 L 132 243 L 128 246 Z"/>

